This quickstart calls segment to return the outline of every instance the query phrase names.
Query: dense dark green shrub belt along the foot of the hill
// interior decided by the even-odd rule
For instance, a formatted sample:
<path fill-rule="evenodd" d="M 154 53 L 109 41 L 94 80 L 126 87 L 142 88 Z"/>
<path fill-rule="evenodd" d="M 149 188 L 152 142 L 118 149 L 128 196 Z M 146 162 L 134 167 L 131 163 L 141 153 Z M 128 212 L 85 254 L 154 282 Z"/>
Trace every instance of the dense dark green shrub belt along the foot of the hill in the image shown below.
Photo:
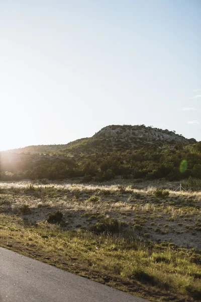
<path fill-rule="evenodd" d="M 199 143 L 171 147 L 141 147 L 126 152 L 105 152 L 76 155 L 16 155 L 13 162 L 9 156 L 0 158 L 0 177 L 4 181 L 21 179 L 62 180 L 82 178 L 84 182 L 123 179 L 160 179 L 168 181 L 201 179 L 201 153 Z M 191 182 L 197 189 L 200 185 Z"/>

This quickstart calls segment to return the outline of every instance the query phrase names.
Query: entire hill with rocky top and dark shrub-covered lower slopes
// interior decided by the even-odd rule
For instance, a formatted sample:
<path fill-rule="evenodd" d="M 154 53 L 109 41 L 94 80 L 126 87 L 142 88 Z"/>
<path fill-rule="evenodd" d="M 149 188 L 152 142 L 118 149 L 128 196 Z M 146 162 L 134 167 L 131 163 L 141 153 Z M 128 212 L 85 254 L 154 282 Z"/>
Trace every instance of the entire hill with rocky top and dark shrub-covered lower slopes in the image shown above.
<path fill-rule="evenodd" d="M 178 181 L 201 178 L 201 142 L 144 125 L 107 126 L 63 145 L 38 145 L 0 153 L 2 180 L 76 178 Z M 190 182 L 192 184 L 192 182 Z M 197 183 L 193 185 L 197 187 Z"/>

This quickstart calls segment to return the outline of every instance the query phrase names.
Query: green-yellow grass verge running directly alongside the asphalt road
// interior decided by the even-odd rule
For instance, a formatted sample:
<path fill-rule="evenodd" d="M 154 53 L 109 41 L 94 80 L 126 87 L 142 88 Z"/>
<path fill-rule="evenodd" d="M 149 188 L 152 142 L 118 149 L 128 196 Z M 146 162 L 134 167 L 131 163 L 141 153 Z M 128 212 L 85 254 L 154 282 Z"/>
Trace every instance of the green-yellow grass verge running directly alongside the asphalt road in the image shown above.
<path fill-rule="evenodd" d="M 120 235 L 59 225 L 28 225 L 1 214 L 1 246 L 152 301 L 200 300 L 200 255 L 172 243 L 151 244 Z"/>

